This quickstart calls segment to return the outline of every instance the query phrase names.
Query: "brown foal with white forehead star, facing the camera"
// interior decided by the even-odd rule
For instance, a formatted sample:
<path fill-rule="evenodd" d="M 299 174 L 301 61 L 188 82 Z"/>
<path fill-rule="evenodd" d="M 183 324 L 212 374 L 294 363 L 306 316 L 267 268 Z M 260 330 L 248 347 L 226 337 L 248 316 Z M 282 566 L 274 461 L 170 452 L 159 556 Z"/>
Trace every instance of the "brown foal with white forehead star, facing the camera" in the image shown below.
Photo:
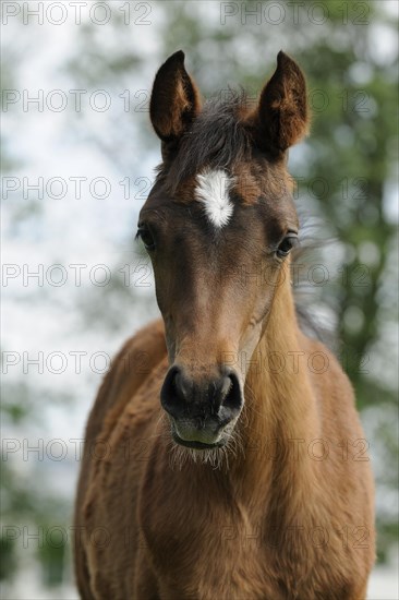
<path fill-rule="evenodd" d="M 280 52 L 256 107 L 242 94 L 202 107 L 179 51 L 150 118 L 162 164 L 138 236 L 164 321 L 125 344 L 88 420 L 82 598 L 364 599 L 366 442 L 347 376 L 298 324 L 290 280 L 303 74 Z"/>

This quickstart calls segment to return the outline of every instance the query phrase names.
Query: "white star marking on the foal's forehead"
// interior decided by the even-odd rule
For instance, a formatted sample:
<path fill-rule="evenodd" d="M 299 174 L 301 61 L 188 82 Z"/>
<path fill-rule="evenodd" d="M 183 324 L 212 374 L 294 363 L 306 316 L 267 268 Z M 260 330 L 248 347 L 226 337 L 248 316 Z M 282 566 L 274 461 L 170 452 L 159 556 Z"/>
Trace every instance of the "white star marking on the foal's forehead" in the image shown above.
<path fill-rule="evenodd" d="M 229 223 L 234 206 L 229 197 L 229 190 L 234 179 L 222 169 L 206 169 L 196 176 L 195 197 L 204 204 L 206 215 L 215 227 Z"/>

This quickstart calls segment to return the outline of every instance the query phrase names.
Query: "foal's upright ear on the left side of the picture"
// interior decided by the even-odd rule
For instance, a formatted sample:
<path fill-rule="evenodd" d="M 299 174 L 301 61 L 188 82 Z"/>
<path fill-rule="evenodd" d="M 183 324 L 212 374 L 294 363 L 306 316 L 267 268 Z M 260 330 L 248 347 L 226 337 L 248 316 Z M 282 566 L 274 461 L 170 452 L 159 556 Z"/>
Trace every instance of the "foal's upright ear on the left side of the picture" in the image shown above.
<path fill-rule="evenodd" d="M 200 94 L 184 69 L 184 52 L 174 52 L 156 74 L 149 116 L 162 151 L 176 147 L 201 110 Z"/>

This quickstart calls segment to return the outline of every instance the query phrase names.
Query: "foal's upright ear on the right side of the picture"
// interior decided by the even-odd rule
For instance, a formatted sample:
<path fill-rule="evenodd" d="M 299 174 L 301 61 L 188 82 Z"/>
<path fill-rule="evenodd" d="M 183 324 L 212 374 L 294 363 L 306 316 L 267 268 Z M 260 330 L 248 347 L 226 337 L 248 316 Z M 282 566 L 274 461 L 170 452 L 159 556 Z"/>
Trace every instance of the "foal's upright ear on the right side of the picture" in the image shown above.
<path fill-rule="evenodd" d="M 277 69 L 261 93 L 253 113 L 257 144 L 280 154 L 299 142 L 309 130 L 305 77 L 297 62 L 280 51 Z"/>

